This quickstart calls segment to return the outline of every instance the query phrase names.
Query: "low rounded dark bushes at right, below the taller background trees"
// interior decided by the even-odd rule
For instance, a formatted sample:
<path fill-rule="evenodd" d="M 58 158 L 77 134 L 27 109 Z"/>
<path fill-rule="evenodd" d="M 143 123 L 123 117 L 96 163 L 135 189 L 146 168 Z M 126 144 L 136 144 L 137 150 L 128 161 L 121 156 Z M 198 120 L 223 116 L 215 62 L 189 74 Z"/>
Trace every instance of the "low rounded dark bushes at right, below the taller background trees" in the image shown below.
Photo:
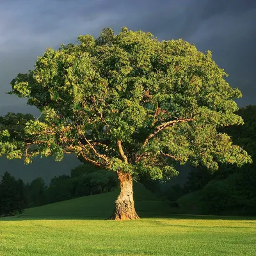
<path fill-rule="evenodd" d="M 253 173 L 254 172 L 254 173 Z M 203 189 L 178 200 L 180 211 L 189 214 L 255 215 L 255 171 L 243 170 L 224 180 L 212 180 Z"/>

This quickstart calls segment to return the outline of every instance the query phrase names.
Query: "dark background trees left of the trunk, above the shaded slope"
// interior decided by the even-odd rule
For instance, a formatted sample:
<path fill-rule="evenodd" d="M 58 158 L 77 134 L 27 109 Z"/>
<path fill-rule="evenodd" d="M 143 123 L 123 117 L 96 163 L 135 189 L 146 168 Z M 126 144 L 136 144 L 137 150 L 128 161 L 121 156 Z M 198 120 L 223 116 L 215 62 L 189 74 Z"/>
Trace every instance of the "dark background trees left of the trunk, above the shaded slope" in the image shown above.
<path fill-rule="evenodd" d="M 29 207 L 109 192 L 116 186 L 115 173 L 95 170 L 90 164 L 77 166 L 70 175 L 54 177 L 49 186 L 40 177 L 25 184 L 5 172 L 0 182 L 0 216 L 12 216 Z"/>

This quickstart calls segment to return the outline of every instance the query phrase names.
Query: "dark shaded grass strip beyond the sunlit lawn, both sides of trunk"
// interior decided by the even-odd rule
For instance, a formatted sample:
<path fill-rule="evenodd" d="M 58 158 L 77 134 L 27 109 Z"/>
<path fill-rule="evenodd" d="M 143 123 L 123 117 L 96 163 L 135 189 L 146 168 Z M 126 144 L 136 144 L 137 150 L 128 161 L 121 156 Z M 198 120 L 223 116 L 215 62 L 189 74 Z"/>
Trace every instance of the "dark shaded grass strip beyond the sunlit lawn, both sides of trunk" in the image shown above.
<path fill-rule="evenodd" d="M 0 221 L 23 220 L 108 220 L 115 207 L 115 193 L 85 196 L 54 204 L 26 209 L 14 217 L 0 218 Z M 93 199 L 93 200 L 92 200 Z M 171 208 L 161 200 L 136 200 L 136 212 L 143 219 L 175 220 L 256 220 L 256 216 L 214 216 L 180 214 L 178 208 Z"/>

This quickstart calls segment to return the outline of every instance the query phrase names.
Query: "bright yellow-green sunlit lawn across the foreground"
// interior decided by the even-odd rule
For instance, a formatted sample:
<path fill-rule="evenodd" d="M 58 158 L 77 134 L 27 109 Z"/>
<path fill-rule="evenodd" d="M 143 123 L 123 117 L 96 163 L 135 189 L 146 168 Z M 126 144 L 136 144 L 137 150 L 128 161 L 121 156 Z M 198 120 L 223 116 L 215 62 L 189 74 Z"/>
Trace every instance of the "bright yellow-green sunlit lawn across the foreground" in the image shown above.
<path fill-rule="evenodd" d="M 256 255 L 256 221 L 0 221 L 0 255 Z"/>

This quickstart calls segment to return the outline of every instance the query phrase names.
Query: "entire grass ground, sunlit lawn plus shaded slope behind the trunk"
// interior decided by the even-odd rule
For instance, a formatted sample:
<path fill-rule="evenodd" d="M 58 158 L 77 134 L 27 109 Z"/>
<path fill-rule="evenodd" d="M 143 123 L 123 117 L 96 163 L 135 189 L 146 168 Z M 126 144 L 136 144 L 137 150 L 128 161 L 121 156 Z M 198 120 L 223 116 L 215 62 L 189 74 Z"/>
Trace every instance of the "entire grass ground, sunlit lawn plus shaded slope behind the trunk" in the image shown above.
<path fill-rule="evenodd" d="M 256 255 L 256 218 L 173 215 L 142 186 L 135 193 L 141 220 L 104 220 L 116 191 L 2 218 L 0 255 Z"/>

